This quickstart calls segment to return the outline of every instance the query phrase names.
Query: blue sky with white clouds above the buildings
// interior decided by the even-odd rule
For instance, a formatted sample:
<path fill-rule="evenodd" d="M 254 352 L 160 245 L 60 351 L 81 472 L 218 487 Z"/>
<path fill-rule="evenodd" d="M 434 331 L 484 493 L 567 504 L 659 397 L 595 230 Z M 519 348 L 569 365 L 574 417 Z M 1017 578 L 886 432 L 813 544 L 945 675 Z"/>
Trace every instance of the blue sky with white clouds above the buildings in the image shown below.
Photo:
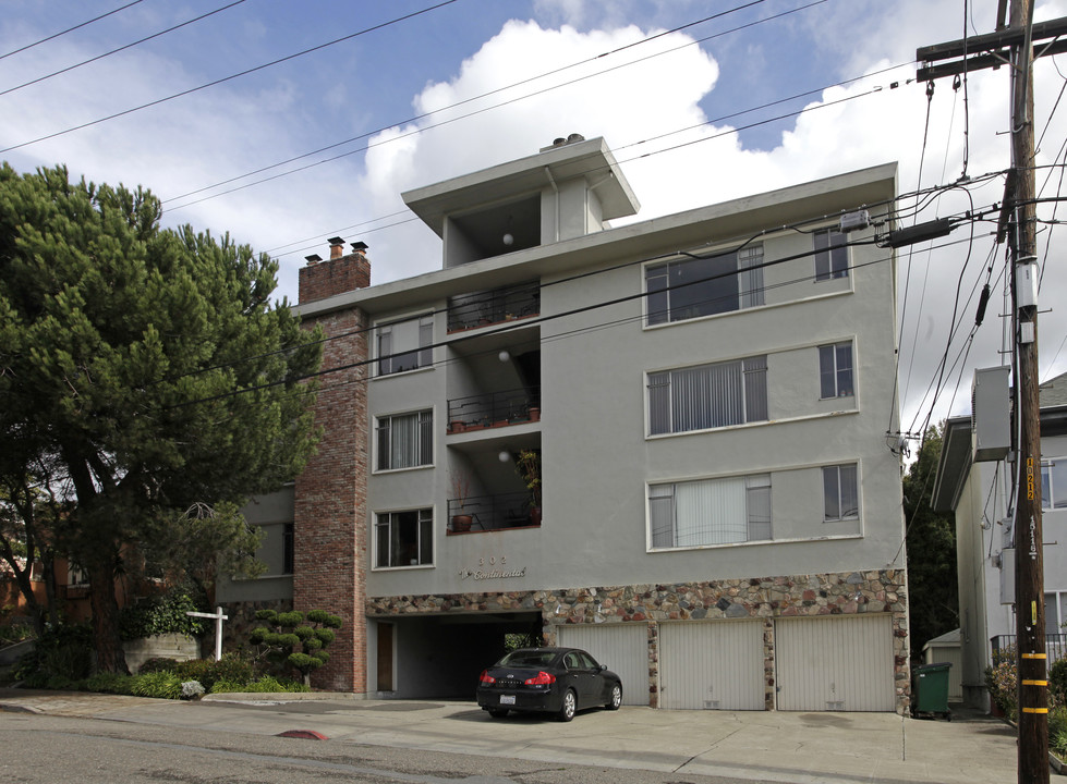
<path fill-rule="evenodd" d="M 277 294 L 290 302 L 304 257 L 328 256 L 327 237 L 365 242 L 373 283 L 439 269 L 440 241 L 400 194 L 571 133 L 614 150 L 642 205 L 627 222 L 892 161 L 901 194 L 957 186 L 901 199 L 906 225 L 1003 197 L 1003 176 L 983 175 L 1010 166 L 1008 70 L 956 89 L 939 79 L 932 95 L 914 78 L 918 47 L 992 32 L 996 5 L 4 0 L 0 159 L 148 187 L 165 225 L 229 233 L 277 258 Z M 1035 9 L 1035 21 L 1067 16 L 1067 0 Z M 1067 54 L 1034 69 L 1047 199 L 1067 142 L 1062 72 Z M 1047 380 L 1067 372 L 1067 230 L 1053 200 L 1039 217 Z M 966 413 L 971 370 L 1006 362 L 994 231 L 962 221 L 898 255 L 905 431 Z M 986 281 L 991 305 L 971 339 Z"/>

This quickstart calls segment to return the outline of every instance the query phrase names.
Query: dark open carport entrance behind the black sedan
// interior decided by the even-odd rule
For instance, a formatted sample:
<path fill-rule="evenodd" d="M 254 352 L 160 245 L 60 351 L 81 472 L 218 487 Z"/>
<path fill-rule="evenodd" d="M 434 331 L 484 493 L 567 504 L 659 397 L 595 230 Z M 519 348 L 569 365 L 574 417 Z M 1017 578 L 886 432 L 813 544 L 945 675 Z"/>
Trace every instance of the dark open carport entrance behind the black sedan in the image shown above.
<path fill-rule="evenodd" d="M 482 671 L 512 648 L 539 642 L 543 621 L 541 612 L 381 617 L 369 630 L 377 696 L 473 701 Z"/>

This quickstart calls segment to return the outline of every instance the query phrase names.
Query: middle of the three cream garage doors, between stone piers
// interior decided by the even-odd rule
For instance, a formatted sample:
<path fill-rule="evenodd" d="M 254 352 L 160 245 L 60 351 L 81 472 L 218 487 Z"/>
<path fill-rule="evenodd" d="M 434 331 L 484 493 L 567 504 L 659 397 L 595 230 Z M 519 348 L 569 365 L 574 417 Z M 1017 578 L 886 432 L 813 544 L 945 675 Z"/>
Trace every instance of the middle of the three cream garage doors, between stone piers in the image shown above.
<path fill-rule="evenodd" d="M 664 708 L 764 710 L 763 622 L 660 625 L 659 686 Z"/>

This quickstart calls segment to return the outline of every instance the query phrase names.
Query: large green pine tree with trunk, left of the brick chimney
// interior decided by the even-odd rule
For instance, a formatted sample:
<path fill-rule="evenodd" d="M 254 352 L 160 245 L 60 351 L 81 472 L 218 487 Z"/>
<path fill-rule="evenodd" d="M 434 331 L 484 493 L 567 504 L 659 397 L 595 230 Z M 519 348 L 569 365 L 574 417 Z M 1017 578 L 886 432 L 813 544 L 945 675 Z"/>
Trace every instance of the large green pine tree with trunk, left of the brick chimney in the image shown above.
<path fill-rule="evenodd" d="M 272 304 L 278 264 L 161 213 L 142 188 L 0 164 L 0 491 L 47 467 L 48 539 L 88 573 L 105 670 L 123 667 L 114 578 L 250 566 L 238 509 L 316 439 L 299 381 L 322 335 Z"/>

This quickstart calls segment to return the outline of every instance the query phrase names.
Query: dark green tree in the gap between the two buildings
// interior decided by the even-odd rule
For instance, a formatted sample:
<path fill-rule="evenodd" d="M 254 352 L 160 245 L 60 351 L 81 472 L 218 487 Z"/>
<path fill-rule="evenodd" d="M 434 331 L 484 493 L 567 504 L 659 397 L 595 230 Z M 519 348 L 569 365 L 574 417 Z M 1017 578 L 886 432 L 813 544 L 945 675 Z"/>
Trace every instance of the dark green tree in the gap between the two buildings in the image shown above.
<path fill-rule="evenodd" d="M 956 577 L 956 520 L 951 513 L 931 509 L 934 474 L 941 457 L 942 431 L 930 428 L 904 478 L 907 519 L 908 613 L 911 656 L 934 637 L 959 628 L 959 586 Z"/>

